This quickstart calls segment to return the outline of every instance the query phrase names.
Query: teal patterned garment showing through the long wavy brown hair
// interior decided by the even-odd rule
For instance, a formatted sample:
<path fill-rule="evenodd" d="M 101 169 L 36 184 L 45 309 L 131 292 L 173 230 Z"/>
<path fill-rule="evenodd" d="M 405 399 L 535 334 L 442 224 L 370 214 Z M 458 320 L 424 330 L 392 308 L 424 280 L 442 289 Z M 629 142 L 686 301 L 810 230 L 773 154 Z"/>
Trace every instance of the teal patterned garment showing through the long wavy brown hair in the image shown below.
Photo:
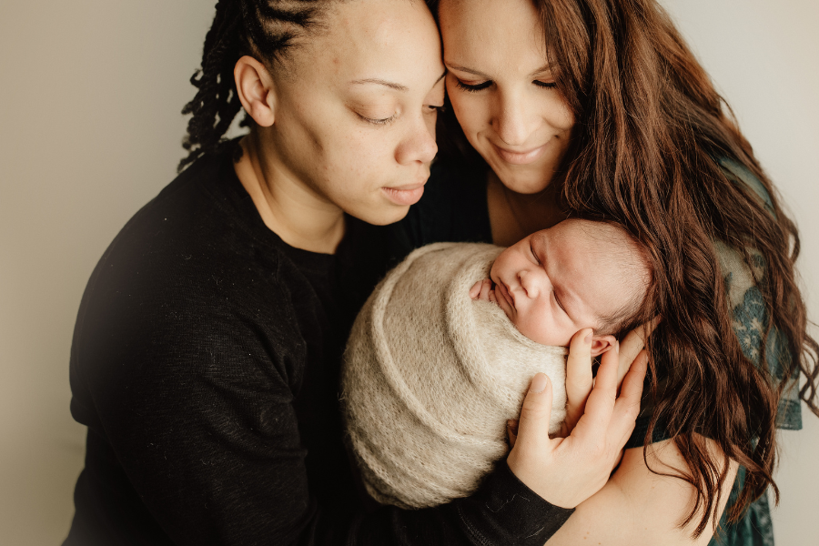
<path fill-rule="evenodd" d="M 760 198 L 764 206 L 773 214 L 771 198 L 762 183 L 743 165 L 730 159 L 719 161 L 723 172 L 737 184 L 749 188 Z M 783 363 L 790 359 L 787 341 L 776 329 L 770 334 L 765 347 L 765 358 L 761 359 L 763 332 L 767 328 L 768 319 L 765 314 L 762 292 L 754 282 L 756 278 L 763 278 L 764 261 L 759 254 L 752 255 L 752 267 L 745 264 L 742 253 L 722 241 L 715 243 L 720 265 L 725 275 L 725 289 L 728 293 L 729 304 L 733 312 L 733 331 L 739 338 L 743 352 L 748 359 L 758 365 L 767 363 L 773 378 L 782 380 L 784 377 Z M 786 430 L 802 429 L 802 407 L 799 401 L 798 378 L 787 379 L 783 397 L 779 401 L 776 413 L 776 426 Z M 772 546 L 773 525 L 771 511 L 768 506 L 767 495 L 754 501 L 743 519 L 728 525 L 728 513 L 736 501 L 739 490 L 742 488 L 745 471 L 740 468 L 736 480 L 733 482 L 728 505 L 720 521 L 720 540 L 714 537 L 709 546 L 721 544 L 724 546 Z"/>

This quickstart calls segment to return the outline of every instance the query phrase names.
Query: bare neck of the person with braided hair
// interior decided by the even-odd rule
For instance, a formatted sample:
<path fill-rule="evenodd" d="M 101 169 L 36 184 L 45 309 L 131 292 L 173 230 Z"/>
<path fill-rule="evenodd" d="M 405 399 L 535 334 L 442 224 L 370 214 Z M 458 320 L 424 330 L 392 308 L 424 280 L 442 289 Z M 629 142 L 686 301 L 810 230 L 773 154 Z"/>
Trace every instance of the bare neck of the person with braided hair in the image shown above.
<path fill-rule="evenodd" d="M 265 225 L 291 247 L 334 254 L 344 237 L 343 211 L 271 160 L 258 134 L 240 144 L 236 174 Z"/>

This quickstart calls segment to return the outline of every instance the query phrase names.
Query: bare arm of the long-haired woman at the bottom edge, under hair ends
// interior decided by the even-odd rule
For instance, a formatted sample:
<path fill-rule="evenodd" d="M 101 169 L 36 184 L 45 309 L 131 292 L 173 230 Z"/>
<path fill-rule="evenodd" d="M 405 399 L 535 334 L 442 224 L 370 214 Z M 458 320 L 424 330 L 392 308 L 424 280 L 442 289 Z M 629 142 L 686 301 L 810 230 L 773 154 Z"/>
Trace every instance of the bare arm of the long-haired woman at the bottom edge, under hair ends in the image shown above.
<path fill-rule="evenodd" d="M 722 450 L 712 440 L 706 440 L 706 444 L 713 460 L 721 460 Z M 646 455 L 653 470 L 675 473 L 669 469 L 686 468 L 672 440 L 651 444 Z M 737 468 L 737 464 L 731 461 L 717 507 L 718 516 L 725 509 Z M 547 544 L 559 546 L 581 541 L 628 546 L 707 544 L 713 536 L 712 519 L 702 535 L 697 539 L 692 536 L 702 512 L 680 528 L 680 523 L 693 507 L 695 495 L 696 490 L 689 483 L 652 473 L 643 460 L 642 448 L 626 450 L 612 479 L 597 494 L 582 502 Z"/>

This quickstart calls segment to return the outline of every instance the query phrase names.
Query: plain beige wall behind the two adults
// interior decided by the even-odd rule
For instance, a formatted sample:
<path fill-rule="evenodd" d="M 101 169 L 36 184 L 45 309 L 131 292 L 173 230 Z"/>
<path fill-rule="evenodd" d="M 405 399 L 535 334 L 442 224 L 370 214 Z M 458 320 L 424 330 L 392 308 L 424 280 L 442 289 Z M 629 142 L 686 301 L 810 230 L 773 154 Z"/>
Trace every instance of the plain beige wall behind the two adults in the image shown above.
<path fill-rule="evenodd" d="M 55 544 L 85 430 L 68 351 L 108 242 L 174 177 L 213 0 L 0 3 L 0 543 Z M 665 0 L 799 223 L 819 318 L 819 8 Z M 815 330 L 814 330 L 815 333 Z M 819 420 L 782 434 L 779 544 L 815 541 Z"/>

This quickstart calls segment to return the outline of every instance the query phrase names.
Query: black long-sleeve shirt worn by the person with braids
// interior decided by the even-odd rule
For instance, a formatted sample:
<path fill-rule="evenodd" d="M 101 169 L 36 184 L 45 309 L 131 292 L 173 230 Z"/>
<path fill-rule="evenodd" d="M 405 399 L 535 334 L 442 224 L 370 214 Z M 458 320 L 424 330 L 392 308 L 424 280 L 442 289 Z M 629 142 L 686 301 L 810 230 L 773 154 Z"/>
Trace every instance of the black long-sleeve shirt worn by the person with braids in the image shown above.
<path fill-rule="evenodd" d="M 571 514 L 504 462 L 468 499 L 367 510 L 339 362 L 383 273 L 384 229 L 335 255 L 264 225 L 231 153 L 189 167 L 122 229 L 71 349 L 86 466 L 66 544 L 542 544 Z"/>

